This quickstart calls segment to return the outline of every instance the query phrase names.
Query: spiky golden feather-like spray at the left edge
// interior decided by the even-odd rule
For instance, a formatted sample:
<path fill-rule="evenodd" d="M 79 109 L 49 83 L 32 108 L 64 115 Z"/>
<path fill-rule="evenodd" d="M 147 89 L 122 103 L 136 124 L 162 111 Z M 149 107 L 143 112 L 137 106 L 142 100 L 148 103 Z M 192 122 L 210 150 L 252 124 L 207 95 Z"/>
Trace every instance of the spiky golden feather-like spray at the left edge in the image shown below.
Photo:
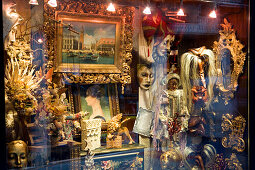
<path fill-rule="evenodd" d="M 5 90 L 8 99 L 14 104 L 15 109 L 26 109 L 37 105 L 33 92 L 39 87 L 42 79 L 35 77 L 34 68 L 28 65 L 20 65 L 16 58 L 7 62 L 5 69 Z"/>

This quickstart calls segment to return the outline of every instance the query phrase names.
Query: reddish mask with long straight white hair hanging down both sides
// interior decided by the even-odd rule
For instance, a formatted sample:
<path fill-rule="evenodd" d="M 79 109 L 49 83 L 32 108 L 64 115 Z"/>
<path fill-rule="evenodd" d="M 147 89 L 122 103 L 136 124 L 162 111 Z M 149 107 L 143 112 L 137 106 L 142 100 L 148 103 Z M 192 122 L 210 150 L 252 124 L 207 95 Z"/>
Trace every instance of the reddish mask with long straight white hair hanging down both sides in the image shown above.
<path fill-rule="evenodd" d="M 213 51 L 203 46 L 184 53 L 181 56 L 181 77 L 183 100 L 189 112 L 209 107 L 217 78 Z"/>

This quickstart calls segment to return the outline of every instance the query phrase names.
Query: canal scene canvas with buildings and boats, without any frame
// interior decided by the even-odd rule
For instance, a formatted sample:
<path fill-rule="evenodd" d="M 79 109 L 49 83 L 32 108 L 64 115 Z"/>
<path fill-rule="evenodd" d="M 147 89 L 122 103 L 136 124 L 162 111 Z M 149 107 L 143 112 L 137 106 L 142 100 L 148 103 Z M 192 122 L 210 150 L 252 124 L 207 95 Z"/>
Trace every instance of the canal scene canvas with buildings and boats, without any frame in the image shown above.
<path fill-rule="evenodd" d="M 114 64 L 116 25 L 65 21 L 62 63 Z"/>

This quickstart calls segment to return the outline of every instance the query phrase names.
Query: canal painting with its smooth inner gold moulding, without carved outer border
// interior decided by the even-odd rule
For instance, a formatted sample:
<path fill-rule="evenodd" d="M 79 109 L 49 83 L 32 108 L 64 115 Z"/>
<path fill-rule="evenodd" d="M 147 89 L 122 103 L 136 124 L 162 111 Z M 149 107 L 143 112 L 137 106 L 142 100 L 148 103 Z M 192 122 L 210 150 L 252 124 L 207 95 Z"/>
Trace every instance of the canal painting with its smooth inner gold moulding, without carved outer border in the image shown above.
<path fill-rule="evenodd" d="M 123 17 L 57 13 L 59 72 L 121 73 Z"/>

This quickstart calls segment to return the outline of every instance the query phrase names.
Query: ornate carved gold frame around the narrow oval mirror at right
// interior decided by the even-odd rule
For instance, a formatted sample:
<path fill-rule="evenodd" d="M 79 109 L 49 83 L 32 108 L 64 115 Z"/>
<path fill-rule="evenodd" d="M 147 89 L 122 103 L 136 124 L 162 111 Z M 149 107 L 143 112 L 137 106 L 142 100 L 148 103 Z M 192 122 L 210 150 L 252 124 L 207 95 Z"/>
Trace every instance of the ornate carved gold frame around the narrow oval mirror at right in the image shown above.
<path fill-rule="evenodd" d="M 216 56 L 216 69 L 218 79 L 216 82 L 217 88 L 220 91 L 220 96 L 225 100 L 225 104 L 234 97 L 234 92 L 238 86 L 238 77 L 242 73 L 246 53 L 242 51 L 244 45 L 236 39 L 235 30 L 232 29 L 231 23 L 224 18 L 224 24 L 221 24 L 222 30 L 219 31 L 219 41 L 213 44 L 213 51 Z M 223 49 L 228 49 L 231 53 L 231 60 L 233 61 L 233 69 L 231 70 L 231 82 L 228 87 L 224 87 L 223 83 L 223 70 L 221 52 Z"/>

